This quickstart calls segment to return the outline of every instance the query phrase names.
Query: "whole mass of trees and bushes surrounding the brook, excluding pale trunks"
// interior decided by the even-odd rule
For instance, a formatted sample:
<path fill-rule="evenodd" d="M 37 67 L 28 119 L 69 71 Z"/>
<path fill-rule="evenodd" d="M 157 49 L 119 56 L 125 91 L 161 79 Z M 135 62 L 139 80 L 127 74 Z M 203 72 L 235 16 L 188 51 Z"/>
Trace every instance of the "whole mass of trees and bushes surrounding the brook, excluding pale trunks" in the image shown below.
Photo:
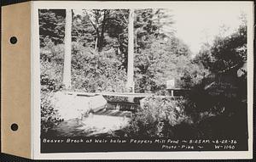
<path fill-rule="evenodd" d="M 71 91 L 126 91 L 129 12 L 73 9 Z M 134 15 L 134 89 L 155 95 L 143 99 L 130 125 L 117 135 L 247 138 L 246 16 L 232 34 L 215 36 L 193 54 L 176 36 L 175 15 L 168 9 L 135 9 Z M 49 98 L 65 89 L 66 11 L 39 9 L 38 18 L 41 131 L 47 132 L 61 123 Z M 170 98 L 166 81 L 171 79 L 189 92 Z"/>

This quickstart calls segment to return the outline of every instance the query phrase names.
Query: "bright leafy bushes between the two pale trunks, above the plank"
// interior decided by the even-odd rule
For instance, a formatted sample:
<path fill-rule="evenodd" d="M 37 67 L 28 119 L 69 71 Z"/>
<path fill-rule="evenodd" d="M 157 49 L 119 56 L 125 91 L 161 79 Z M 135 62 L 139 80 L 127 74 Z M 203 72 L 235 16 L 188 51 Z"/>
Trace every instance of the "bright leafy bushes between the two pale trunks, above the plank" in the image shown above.
<path fill-rule="evenodd" d="M 124 92 L 125 70 L 113 50 L 101 53 L 73 43 L 73 89 L 84 92 Z"/>

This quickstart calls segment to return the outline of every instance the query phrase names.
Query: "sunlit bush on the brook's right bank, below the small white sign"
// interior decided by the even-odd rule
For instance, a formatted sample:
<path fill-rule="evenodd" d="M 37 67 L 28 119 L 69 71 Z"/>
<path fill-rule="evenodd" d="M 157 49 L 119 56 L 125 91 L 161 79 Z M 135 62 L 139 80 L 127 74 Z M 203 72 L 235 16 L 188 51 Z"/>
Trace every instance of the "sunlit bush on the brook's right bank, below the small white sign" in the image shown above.
<path fill-rule="evenodd" d="M 184 102 L 183 98 L 143 98 L 142 108 L 132 116 L 125 131 L 132 137 L 173 137 L 174 126 L 192 122 L 184 112 Z"/>

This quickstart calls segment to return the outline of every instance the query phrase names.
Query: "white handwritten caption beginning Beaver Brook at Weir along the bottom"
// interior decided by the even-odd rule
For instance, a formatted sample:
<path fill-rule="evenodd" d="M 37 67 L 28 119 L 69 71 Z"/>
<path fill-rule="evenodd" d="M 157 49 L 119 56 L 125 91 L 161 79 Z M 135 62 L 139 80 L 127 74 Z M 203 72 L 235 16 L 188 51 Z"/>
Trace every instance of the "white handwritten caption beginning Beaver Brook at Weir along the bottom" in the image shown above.
<path fill-rule="evenodd" d="M 43 143 L 110 143 L 110 144 L 118 144 L 118 143 L 129 143 L 135 145 L 157 145 L 158 148 L 163 150 L 204 150 L 205 146 L 211 146 L 212 149 L 215 150 L 235 150 L 237 141 L 235 139 L 230 140 L 173 140 L 173 139 L 97 139 L 97 138 L 67 138 L 67 139 L 49 139 L 43 138 Z"/>

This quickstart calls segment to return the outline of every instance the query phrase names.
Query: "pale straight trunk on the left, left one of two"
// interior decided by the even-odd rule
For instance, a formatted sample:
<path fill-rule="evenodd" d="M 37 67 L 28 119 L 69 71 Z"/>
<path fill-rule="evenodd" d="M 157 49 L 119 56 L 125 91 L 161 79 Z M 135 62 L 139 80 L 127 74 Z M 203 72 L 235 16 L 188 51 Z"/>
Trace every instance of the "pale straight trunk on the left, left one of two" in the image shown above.
<path fill-rule="evenodd" d="M 65 53 L 64 53 L 64 71 L 63 84 L 65 89 L 71 87 L 71 30 L 72 30 L 72 10 L 66 9 L 66 25 L 65 25 Z"/>

